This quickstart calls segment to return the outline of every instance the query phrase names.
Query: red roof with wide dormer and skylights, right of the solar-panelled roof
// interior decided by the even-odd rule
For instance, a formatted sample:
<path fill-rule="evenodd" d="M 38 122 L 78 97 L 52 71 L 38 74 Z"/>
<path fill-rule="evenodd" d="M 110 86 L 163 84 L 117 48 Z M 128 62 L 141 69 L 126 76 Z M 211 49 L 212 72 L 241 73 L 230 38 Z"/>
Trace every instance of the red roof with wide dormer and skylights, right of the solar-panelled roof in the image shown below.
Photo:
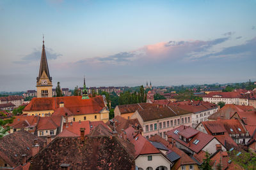
<path fill-rule="evenodd" d="M 198 133 L 188 142 L 186 143 L 182 139 L 179 139 L 179 132 L 182 131 L 190 131 L 190 129 L 193 129 L 192 127 L 186 127 L 184 125 L 181 125 L 180 127 L 177 127 L 175 129 L 172 129 L 171 131 L 166 132 L 168 136 L 172 136 L 175 141 L 181 143 L 182 145 L 186 146 L 187 148 L 190 148 L 194 152 L 198 153 L 204 146 L 206 146 L 212 139 L 214 139 L 214 136 L 211 136 L 209 134 L 205 134 L 203 132 L 198 131 Z M 174 131 L 178 130 L 178 134 L 174 134 Z M 199 142 L 197 144 L 194 144 L 193 142 L 195 139 L 198 139 Z"/>

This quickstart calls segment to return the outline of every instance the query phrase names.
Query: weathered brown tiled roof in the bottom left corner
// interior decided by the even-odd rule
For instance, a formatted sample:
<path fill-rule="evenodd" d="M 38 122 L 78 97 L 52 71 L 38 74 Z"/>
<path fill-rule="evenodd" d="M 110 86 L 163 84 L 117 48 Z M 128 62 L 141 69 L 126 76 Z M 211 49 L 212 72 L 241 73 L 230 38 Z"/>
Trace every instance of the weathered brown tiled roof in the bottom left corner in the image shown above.
<path fill-rule="evenodd" d="M 43 146 L 43 139 L 24 130 L 0 138 L 0 157 L 10 166 L 18 166 L 22 163 L 23 154 L 26 154 L 27 158 L 32 156 L 34 139 L 38 139 L 40 146 Z"/>

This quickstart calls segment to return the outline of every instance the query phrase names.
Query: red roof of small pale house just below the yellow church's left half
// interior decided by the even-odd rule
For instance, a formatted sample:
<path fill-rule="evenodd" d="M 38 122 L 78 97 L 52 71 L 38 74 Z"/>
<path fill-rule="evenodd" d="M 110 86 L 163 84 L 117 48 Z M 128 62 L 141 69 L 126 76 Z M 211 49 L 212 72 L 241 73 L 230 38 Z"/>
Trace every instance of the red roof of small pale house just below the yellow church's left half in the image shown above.
<path fill-rule="evenodd" d="M 40 117 L 37 130 L 57 129 L 61 126 L 62 117 Z"/>

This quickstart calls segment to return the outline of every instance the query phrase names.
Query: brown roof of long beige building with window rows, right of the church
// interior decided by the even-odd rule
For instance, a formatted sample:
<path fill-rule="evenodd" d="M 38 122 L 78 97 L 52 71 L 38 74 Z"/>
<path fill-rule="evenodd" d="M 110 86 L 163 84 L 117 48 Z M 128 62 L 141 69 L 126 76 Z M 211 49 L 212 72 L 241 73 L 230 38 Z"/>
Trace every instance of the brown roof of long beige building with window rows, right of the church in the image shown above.
<path fill-rule="evenodd" d="M 177 117 L 180 115 L 186 115 L 191 112 L 182 110 L 176 106 L 165 106 L 163 108 L 148 108 L 145 110 L 138 110 L 141 118 L 144 122 L 151 120 L 158 120 L 162 118 Z"/>

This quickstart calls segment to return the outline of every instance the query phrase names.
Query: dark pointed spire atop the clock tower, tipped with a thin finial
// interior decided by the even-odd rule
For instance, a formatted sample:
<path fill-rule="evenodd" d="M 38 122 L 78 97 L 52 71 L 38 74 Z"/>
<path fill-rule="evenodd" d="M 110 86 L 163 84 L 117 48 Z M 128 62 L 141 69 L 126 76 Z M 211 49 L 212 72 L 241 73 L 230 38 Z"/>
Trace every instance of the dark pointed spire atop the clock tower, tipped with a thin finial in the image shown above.
<path fill-rule="evenodd" d="M 44 71 L 47 77 L 49 78 L 49 80 L 52 81 L 52 78 L 50 77 L 49 67 L 48 67 L 46 53 L 45 53 L 44 35 L 43 35 L 43 46 L 42 46 L 42 54 L 41 54 L 41 61 L 40 61 L 40 69 L 39 69 L 38 78 L 36 78 L 37 82 L 39 82 Z"/>

